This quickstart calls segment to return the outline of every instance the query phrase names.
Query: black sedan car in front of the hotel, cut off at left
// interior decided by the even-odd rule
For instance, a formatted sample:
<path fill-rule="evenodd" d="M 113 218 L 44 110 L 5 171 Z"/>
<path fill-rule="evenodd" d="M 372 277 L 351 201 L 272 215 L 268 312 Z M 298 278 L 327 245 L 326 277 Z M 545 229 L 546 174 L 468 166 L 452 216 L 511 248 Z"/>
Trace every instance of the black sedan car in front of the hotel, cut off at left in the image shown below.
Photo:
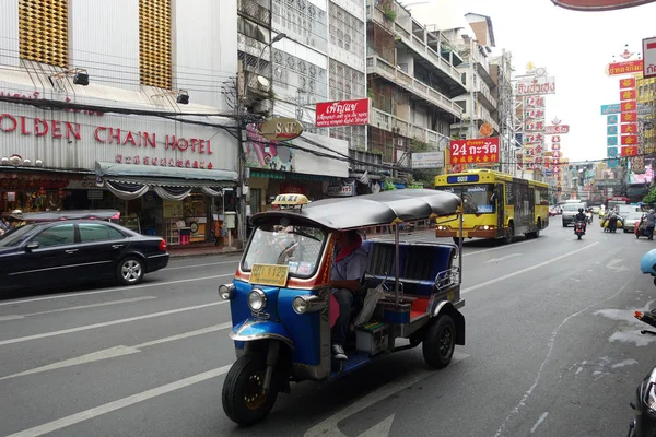
<path fill-rule="evenodd" d="M 30 223 L 0 237 L 0 290 L 115 279 L 133 285 L 168 264 L 166 241 L 97 220 Z"/>

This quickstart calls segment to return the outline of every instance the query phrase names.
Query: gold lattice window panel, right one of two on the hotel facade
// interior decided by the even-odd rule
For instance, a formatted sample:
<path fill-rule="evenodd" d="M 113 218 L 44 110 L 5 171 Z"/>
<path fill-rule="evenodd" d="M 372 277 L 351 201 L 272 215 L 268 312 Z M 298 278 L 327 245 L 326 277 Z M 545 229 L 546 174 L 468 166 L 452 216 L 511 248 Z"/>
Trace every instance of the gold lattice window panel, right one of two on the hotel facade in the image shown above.
<path fill-rule="evenodd" d="M 171 0 L 139 0 L 141 84 L 171 90 Z"/>

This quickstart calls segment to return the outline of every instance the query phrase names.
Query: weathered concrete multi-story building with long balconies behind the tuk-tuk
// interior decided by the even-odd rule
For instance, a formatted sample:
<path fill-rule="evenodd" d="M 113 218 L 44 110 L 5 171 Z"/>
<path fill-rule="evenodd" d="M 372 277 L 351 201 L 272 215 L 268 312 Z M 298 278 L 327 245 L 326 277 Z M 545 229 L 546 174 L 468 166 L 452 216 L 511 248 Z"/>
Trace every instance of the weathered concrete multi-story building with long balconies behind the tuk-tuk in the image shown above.
<path fill-rule="evenodd" d="M 418 151 L 448 149 L 467 88 L 447 33 L 430 29 L 394 0 L 367 1 L 368 150 L 409 167 Z M 397 173 L 398 176 L 399 175 Z"/>

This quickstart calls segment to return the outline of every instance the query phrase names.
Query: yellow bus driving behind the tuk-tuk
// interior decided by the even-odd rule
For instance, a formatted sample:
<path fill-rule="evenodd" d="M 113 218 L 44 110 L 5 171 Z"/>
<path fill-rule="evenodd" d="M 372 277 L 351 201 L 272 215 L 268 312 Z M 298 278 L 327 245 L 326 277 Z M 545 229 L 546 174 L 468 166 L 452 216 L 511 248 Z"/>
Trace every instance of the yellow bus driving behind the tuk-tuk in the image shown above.
<path fill-rule="evenodd" d="M 464 200 L 465 222 L 459 235 L 457 217 L 442 217 L 436 237 L 504 238 L 517 235 L 537 238 L 549 226 L 549 186 L 505 173 L 476 169 L 435 177 L 435 189 Z"/>

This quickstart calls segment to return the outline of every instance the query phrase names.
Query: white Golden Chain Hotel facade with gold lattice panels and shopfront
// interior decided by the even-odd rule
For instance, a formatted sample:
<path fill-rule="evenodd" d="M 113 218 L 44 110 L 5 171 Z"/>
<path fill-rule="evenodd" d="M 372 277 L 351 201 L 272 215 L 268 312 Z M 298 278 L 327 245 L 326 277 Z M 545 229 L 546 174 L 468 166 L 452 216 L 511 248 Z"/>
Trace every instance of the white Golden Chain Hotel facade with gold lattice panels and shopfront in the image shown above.
<path fill-rule="evenodd" d="M 237 182 L 236 38 L 236 0 L 3 1 L 0 210 L 115 208 L 212 239 Z"/>

